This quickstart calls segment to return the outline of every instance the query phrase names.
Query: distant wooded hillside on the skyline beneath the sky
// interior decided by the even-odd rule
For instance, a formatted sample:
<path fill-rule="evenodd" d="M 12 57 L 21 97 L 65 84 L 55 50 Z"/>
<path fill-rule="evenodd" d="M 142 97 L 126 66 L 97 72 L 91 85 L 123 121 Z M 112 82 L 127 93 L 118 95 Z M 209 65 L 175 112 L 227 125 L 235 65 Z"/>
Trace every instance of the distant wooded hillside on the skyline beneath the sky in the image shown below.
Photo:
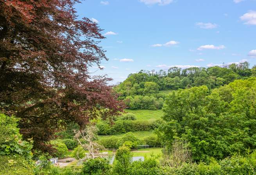
<path fill-rule="evenodd" d="M 132 73 L 115 87 L 130 109 L 161 109 L 166 94 L 163 90 L 188 89 L 205 85 L 209 89 L 229 84 L 236 79 L 247 79 L 256 76 L 256 66 L 250 68 L 248 62 L 209 68 L 171 67 L 168 70 L 145 71 Z"/>

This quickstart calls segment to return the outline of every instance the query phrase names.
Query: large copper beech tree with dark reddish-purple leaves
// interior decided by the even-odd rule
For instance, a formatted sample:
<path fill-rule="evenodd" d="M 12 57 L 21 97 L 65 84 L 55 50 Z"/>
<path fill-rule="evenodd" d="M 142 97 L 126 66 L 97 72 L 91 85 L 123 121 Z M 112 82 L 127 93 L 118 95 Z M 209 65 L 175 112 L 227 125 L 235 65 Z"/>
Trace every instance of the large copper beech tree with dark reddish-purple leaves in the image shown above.
<path fill-rule="evenodd" d="M 56 129 L 80 126 L 104 109 L 122 110 L 106 77 L 88 68 L 107 60 L 96 23 L 78 19 L 78 0 L 0 0 L 0 110 L 21 118 L 34 147 L 45 149 Z M 107 109 L 107 110 L 106 110 Z"/>

